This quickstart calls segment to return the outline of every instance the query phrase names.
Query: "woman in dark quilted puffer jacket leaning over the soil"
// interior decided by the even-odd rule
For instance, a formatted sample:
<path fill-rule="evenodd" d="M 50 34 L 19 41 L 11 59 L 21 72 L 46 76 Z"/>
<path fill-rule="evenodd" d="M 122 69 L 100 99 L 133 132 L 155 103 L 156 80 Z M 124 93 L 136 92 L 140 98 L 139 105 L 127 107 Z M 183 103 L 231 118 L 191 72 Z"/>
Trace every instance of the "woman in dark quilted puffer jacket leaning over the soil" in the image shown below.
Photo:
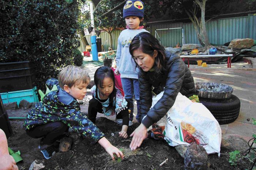
<path fill-rule="evenodd" d="M 182 59 L 165 51 L 150 33 L 142 32 L 136 35 L 129 51 L 140 70 L 141 124 L 131 134 L 133 138 L 130 144 L 130 148 L 135 150 L 147 138 L 147 128 L 158 122 L 173 106 L 178 92 L 189 97 L 196 94 L 196 88 L 193 76 Z M 153 93 L 158 95 L 162 91 L 162 98 L 150 109 Z"/>

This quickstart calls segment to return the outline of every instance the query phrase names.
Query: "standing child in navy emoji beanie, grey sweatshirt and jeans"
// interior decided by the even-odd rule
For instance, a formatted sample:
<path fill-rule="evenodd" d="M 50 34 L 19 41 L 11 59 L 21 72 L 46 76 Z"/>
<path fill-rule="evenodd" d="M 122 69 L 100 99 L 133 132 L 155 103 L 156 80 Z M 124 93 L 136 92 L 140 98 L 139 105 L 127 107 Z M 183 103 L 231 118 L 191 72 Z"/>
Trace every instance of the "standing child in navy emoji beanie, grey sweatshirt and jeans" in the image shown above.
<path fill-rule="evenodd" d="M 116 54 L 116 70 L 115 74 L 121 74 L 121 82 L 124 90 L 124 97 L 128 102 L 128 108 L 131 110 L 129 120 L 133 120 L 133 96 L 137 102 L 137 116 L 139 121 L 140 115 L 140 96 L 138 68 L 135 68 L 135 62 L 129 53 L 129 46 L 133 37 L 140 32 L 148 32 L 140 26 L 140 22 L 144 19 L 144 3 L 140 0 L 128 0 L 123 8 L 123 17 L 125 19 L 126 28 L 118 37 L 118 46 Z M 119 122 L 121 120 L 117 120 Z M 120 122 L 121 123 L 121 122 Z M 131 122 L 129 122 L 131 123 Z"/>

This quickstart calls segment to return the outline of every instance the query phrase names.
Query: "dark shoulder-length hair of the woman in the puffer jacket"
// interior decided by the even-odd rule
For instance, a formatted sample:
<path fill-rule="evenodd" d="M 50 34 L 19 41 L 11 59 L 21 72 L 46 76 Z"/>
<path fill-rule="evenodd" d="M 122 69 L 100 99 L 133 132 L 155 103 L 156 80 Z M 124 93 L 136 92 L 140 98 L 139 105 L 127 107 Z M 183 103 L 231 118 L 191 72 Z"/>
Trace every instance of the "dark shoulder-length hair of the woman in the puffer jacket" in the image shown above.
<path fill-rule="evenodd" d="M 148 54 L 153 57 L 154 50 L 158 52 L 157 57 L 155 58 L 155 70 L 157 73 L 160 73 L 162 70 L 166 68 L 165 62 L 165 48 L 161 46 L 159 41 L 150 33 L 148 32 L 141 32 L 137 34 L 133 39 L 129 47 L 130 54 L 133 57 L 133 51 L 140 49 L 143 53 Z M 136 67 L 139 67 L 138 64 L 135 62 Z M 139 69 L 143 70 L 139 67 Z"/>

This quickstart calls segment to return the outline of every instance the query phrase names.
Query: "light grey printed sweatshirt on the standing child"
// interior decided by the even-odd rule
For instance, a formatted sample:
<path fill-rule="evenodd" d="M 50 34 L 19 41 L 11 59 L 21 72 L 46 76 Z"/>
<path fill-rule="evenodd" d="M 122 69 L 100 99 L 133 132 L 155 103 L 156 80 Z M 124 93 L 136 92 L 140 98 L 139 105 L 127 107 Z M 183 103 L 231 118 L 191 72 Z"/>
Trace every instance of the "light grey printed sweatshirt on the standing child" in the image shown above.
<path fill-rule="evenodd" d="M 121 74 L 121 78 L 138 79 L 138 68 L 135 70 L 135 62 L 129 52 L 129 46 L 140 32 L 148 32 L 146 29 L 125 29 L 118 37 L 116 52 L 116 67 Z"/>

